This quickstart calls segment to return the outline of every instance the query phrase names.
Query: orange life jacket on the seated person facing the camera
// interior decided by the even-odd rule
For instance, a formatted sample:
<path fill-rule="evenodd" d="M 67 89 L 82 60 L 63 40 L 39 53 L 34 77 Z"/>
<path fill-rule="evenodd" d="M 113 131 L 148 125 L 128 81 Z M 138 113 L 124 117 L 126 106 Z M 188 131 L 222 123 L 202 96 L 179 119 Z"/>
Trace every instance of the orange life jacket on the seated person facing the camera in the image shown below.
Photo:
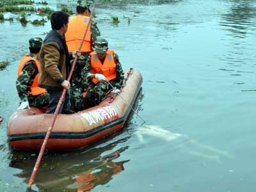
<path fill-rule="evenodd" d="M 92 74 L 103 74 L 108 81 L 111 81 L 116 78 L 116 63 L 113 58 L 114 51 L 111 49 L 108 49 L 106 52 L 106 58 L 104 60 L 104 63 L 102 65 L 101 61 L 97 57 L 97 53 L 93 51 L 91 53 L 91 70 L 90 72 Z M 97 84 L 99 83 L 99 80 L 96 78 L 92 79 L 93 83 Z"/>

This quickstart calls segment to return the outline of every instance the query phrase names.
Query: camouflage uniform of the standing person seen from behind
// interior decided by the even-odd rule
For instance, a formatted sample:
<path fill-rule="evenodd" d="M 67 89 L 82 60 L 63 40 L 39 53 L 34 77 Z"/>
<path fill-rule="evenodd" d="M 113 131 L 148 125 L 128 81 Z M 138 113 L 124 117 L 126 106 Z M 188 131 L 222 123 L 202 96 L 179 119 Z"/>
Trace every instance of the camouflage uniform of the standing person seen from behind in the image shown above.
<path fill-rule="evenodd" d="M 84 6 L 84 1 L 77 1 L 77 6 Z M 83 4 L 83 5 L 82 5 Z M 88 8 L 87 4 L 87 8 Z M 94 45 L 95 40 L 97 39 L 97 36 L 100 36 L 99 28 L 97 27 L 97 22 L 94 22 L 92 20 L 91 23 L 91 33 L 92 33 L 92 47 Z M 78 49 L 78 47 L 77 47 Z M 83 78 L 81 77 L 81 70 L 84 68 L 85 61 L 88 58 L 88 55 L 90 52 L 81 52 L 81 57 L 79 60 L 77 60 L 76 66 L 74 68 L 70 84 L 70 101 L 72 110 L 77 112 L 84 109 L 84 101 L 83 101 L 83 92 L 84 92 L 84 86 L 83 86 Z M 74 60 L 71 60 L 71 63 L 73 63 Z"/>

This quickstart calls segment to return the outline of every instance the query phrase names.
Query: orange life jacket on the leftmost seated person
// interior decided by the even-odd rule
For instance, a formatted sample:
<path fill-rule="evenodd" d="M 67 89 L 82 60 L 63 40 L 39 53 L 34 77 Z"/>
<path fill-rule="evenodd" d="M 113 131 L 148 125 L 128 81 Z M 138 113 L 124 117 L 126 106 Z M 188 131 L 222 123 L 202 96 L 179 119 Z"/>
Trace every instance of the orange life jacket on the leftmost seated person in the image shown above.
<path fill-rule="evenodd" d="M 36 68 L 39 71 L 39 62 L 35 58 L 30 57 L 29 54 L 26 54 L 20 60 L 19 67 L 18 67 L 18 72 L 17 72 L 17 77 L 19 77 L 20 72 L 22 72 L 22 69 L 28 63 L 28 61 L 31 61 L 31 60 L 35 62 Z M 45 89 L 40 88 L 38 86 L 38 76 L 39 76 L 39 73 L 36 74 L 34 79 L 29 79 L 28 87 L 31 90 L 31 92 L 29 92 L 29 94 L 31 94 L 31 95 L 40 95 L 42 93 L 47 93 L 47 91 Z"/>

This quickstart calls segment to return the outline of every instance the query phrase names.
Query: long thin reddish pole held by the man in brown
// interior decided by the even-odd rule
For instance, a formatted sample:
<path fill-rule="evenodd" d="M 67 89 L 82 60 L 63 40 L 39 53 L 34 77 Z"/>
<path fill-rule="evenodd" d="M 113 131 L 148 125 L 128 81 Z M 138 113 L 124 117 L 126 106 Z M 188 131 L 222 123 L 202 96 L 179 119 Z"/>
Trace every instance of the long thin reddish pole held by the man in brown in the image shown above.
<path fill-rule="evenodd" d="M 89 26 L 91 25 L 92 18 L 93 18 L 93 13 L 94 13 L 94 10 L 95 10 L 96 3 L 97 3 L 97 0 L 94 1 L 93 10 L 92 10 L 92 13 L 91 13 L 91 15 L 90 15 L 90 20 L 88 21 L 88 25 L 86 26 L 86 29 L 85 29 L 85 31 L 84 31 L 83 38 L 82 38 L 82 40 L 81 40 L 81 43 L 80 43 L 80 45 L 79 45 L 79 48 L 77 49 L 78 51 L 81 50 L 81 47 L 82 47 L 83 42 L 84 42 L 84 38 L 85 38 L 85 36 L 86 36 L 86 33 L 87 33 L 87 31 L 88 31 Z M 74 62 L 73 62 L 73 64 L 72 64 L 70 73 L 69 73 L 69 75 L 68 75 L 67 81 L 70 81 L 70 78 L 71 78 L 71 76 L 72 76 L 73 70 L 74 70 L 75 65 L 76 65 L 76 62 L 77 62 L 77 52 L 76 52 L 76 56 L 75 56 Z M 42 157 L 43 157 L 43 154 L 44 154 L 44 150 L 45 150 L 47 141 L 48 141 L 48 139 L 49 139 L 49 137 L 50 137 L 50 134 L 51 134 L 51 132 L 52 132 L 52 127 L 54 126 L 54 124 L 55 124 L 55 122 L 56 122 L 56 118 L 57 118 L 57 115 L 58 115 L 58 113 L 59 113 L 59 111 L 60 111 L 60 106 L 61 106 L 62 100 L 63 100 L 64 95 L 65 95 L 66 92 L 67 92 L 67 89 L 66 89 L 66 88 L 63 88 L 63 91 L 62 91 L 62 93 L 61 93 L 61 97 L 60 97 L 60 100 L 59 100 L 59 102 L 58 102 L 57 108 L 56 108 L 56 110 L 55 110 L 55 112 L 54 112 L 54 115 L 52 116 L 51 125 L 49 126 L 49 128 L 48 128 L 48 130 L 47 130 L 46 136 L 45 136 L 45 138 L 44 138 L 44 142 L 43 142 L 43 144 L 42 144 L 42 147 L 41 147 L 40 152 L 39 152 L 39 154 L 38 154 L 38 157 L 37 157 L 37 159 L 36 159 L 36 164 L 35 164 L 35 166 L 34 166 L 33 172 L 32 172 L 31 177 L 30 177 L 30 179 L 29 179 L 28 188 L 27 188 L 27 190 L 26 190 L 27 192 L 31 191 L 31 187 L 32 187 L 33 182 L 34 182 L 35 177 L 36 177 L 36 172 L 37 172 L 38 167 L 39 167 L 39 165 L 40 165 L 40 162 L 41 162 L 41 160 L 42 160 Z"/>

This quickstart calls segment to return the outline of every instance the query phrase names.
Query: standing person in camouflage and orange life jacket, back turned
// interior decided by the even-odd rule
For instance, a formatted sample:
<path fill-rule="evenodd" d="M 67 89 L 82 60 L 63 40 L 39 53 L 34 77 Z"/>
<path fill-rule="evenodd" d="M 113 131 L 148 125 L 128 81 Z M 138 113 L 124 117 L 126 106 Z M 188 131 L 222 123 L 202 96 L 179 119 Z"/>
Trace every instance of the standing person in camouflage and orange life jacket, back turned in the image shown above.
<path fill-rule="evenodd" d="M 72 16 L 68 22 L 68 30 L 65 33 L 66 42 L 68 46 L 68 51 L 75 54 L 81 40 L 83 38 L 86 26 L 90 20 L 90 4 L 84 0 L 77 1 L 76 13 L 77 15 Z M 81 57 L 77 60 L 76 67 L 70 79 L 70 102 L 73 111 L 81 111 L 84 109 L 83 101 L 83 79 L 81 77 L 81 70 L 85 65 L 86 58 L 90 52 L 92 52 L 92 47 L 94 45 L 97 36 L 100 36 L 99 28 L 97 27 L 97 22 L 92 20 L 90 27 L 86 33 L 86 36 L 81 47 Z M 73 63 L 73 60 L 71 61 Z"/>

